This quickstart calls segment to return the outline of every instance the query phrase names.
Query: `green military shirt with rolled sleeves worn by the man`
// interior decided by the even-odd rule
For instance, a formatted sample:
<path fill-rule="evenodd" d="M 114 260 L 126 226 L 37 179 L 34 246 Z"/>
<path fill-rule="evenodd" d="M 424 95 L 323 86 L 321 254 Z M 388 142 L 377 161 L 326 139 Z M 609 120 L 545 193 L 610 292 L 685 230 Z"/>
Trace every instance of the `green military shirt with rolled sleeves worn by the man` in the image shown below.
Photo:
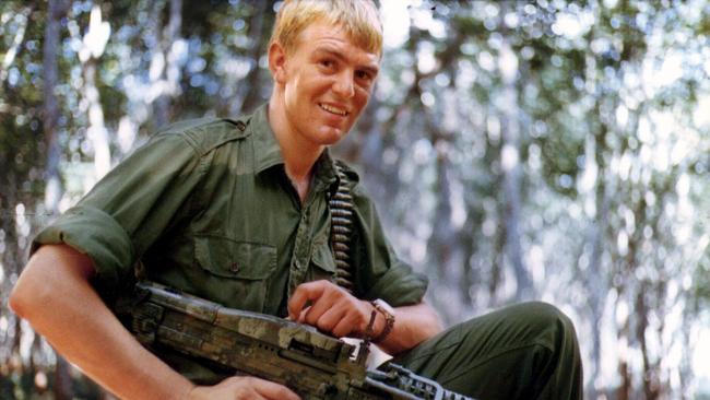
<path fill-rule="evenodd" d="M 328 200 L 339 178 L 328 151 L 315 168 L 301 203 L 265 105 L 238 120 L 176 123 L 42 231 L 33 251 L 64 243 L 88 255 L 93 284 L 109 304 L 140 271 L 227 307 L 284 316 L 298 284 L 335 273 Z M 356 294 L 394 306 L 418 303 L 426 278 L 397 258 L 357 175 L 345 170 L 355 203 Z M 197 383 L 218 379 L 178 354 L 162 356 Z"/>

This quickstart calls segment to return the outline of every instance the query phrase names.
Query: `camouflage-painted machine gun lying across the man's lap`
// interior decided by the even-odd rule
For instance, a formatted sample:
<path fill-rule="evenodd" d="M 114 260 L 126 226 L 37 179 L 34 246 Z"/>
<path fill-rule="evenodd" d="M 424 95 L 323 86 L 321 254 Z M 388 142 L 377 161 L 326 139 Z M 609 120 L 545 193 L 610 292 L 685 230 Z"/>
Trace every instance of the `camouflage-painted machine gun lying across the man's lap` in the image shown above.
<path fill-rule="evenodd" d="M 139 282 L 119 318 L 149 350 L 168 346 L 238 375 L 285 385 L 305 400 L 473 400 L 409 369 L 368 369 L 357 346 L 282 318 L 226 308 L 166 286 Z"/>

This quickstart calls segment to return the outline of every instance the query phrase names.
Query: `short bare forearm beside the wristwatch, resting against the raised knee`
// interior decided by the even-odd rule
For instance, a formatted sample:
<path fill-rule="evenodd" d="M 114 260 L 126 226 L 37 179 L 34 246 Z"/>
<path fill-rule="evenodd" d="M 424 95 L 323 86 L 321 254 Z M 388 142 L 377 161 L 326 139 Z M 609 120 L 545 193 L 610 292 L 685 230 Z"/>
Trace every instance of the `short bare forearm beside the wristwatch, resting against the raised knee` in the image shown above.
<path fill-rule="evenodd" d="M 399 354 L 441 332 L 442 325 L 437 313 L 426 303 L 394 308 L 392 331 L 380 343 L 380 349 L 389 354 Z M 378 313 L 375 331 L 384 327 L 384 318 Z"/>

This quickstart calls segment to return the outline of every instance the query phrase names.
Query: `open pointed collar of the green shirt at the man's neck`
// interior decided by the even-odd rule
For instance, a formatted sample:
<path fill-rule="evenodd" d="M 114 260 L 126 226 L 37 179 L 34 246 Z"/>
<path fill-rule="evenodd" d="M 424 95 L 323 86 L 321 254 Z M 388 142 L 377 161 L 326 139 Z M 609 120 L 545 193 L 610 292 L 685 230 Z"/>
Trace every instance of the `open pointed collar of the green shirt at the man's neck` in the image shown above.
<path fill-rule="evenodd" d="M 255 150 L 255 170 L 261 174 L 267 169 L 271 169 L 276 165 L 283 165 L 284 158 L 281 154 L 281 148 L 276 141 L 276 136 L 271 129 L 267 113 L 269 104 L 263 104 L 257 108 L 251 116 L 249 129 L 253 138 Z M 335 165 L 333 158 L 330 156 L 328 148 L 318 157 L 315 165 L 315 189 L 320 190 L 323 187 L 330 187 L 339 181 L 338 174 L 335 173 Z"/>

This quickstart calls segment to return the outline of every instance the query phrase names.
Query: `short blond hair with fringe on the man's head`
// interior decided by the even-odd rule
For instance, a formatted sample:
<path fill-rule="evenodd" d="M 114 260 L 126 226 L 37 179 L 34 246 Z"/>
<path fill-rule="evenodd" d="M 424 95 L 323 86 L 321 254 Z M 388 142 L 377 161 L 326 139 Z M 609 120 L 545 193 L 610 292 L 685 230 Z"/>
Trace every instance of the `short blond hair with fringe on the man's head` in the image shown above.
<path fill-rule="evenodd" d="M 298 35 L 318 21 L 343 28 L 356 46 L 381 55 L 382 23 L 371 0 L 285 0 L 276 14 L 270 43 L 279 43 L 291 54 Z"/>

